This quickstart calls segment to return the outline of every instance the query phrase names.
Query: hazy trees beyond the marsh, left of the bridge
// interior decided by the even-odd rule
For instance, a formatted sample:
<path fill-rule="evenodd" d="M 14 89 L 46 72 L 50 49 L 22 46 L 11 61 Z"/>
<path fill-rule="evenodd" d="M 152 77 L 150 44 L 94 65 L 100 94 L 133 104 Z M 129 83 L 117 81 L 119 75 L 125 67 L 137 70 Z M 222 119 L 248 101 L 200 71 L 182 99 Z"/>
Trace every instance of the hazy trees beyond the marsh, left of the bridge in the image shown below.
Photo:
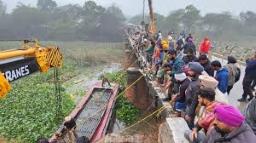
<path fill-rule="evenodd" d="M 58 6 L 54 0 L 38 0 L 36 7 L 19 3 L 6 13 L 0 0 L 0 40 L 120 41 L 124 22 L 118 7 L 104 8 L 94 1 Z"/>

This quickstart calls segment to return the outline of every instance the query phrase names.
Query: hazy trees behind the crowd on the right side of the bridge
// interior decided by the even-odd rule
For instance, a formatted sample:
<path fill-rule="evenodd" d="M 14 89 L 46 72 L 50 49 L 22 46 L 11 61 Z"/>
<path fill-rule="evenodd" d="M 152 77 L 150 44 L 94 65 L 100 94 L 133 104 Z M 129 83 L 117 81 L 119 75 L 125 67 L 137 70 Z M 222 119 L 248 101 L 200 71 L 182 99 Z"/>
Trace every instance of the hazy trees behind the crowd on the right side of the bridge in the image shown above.
<path fill-rule="evenodd" d="M 210 38 L 222 41 L 237 41 L 256 38 L 256 13 L 252 11 L 241 12 L 234 16 L 229 12 L 208 13 L 201 15 L 200 10 L 193 5 L 184 9 L 172 11 L 167 16 L 155 14 L 158 29 L 162 32 L 181 31 L 192 33 L 199 37 L 209 36 Z M 129 22 L 139 24 L 142 15 L 132 17 Z M 148 16 L 146 23 L 148 23 Z"/>

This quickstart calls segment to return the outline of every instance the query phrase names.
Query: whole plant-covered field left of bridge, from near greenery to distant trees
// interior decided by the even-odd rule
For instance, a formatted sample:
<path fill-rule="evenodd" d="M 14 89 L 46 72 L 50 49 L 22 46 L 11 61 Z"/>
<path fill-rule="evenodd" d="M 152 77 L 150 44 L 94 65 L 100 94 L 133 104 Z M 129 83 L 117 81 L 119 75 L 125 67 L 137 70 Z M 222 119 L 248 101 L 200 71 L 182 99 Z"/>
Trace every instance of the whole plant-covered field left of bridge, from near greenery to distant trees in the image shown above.
<path fill-rule="evenodd" d="M 74 108 L 77 98 L 85 94 L 84 87 L 77 84 L 81 78 L 97 78 L 105 66 L 120 63 L 124 56 L 123 43 L 42 42 L 43 45 L 49 43 L 58 45 L 64 55 L 60 69 L 62 117 Z M 20 46 L 20 42 L 0 42 L 1 50 Z M 38 138 L 50 137 L 62 122 L 55 119 L 53 70 L 11 84 L 11 92 L 0 100 L 0 141 L 3 142 L 3 138 L 8 142 L 33 143 Z"/>

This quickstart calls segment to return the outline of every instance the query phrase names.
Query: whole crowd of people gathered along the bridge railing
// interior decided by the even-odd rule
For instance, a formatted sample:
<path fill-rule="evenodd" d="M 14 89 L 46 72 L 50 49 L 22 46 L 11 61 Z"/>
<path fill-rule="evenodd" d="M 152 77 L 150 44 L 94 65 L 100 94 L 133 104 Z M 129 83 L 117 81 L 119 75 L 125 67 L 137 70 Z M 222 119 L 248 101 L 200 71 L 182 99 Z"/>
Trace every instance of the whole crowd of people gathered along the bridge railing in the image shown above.
<path fill-rule="evenodd" d="M 214 60 L 208 37 L 198 46 L 192 34 L 186 37 L 183 32 L 175 37 L 172 32 L 163 36 L 159 31 L 154 37 L 142 33 L 138 51 L 146 56 L 145 71 L 154 75 L 155 85 L 165 93 L 164 100 L 171 103 L 174 115 L 187 122 L 190 130 L 184 135 L 188 141 L 255 143 L 256 51 L 246 61 L 243 94 L 238 101 L 248 104 L 241 113 L 228 100 L 241 75 L 237 59 L 229 55 L 227 63 Z"/>

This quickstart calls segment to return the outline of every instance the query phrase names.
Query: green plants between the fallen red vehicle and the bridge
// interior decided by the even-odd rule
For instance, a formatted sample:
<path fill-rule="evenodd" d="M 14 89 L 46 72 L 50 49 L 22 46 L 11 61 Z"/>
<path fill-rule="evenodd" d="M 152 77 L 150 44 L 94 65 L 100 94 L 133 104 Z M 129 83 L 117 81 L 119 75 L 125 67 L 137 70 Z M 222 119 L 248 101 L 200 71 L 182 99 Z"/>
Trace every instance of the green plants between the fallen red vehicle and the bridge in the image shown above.
<path fill-rule="evenodd" d="M 127 74 L 125 71 L 119 71 L 114 73 L 107 73 L 106 77 L 111 82 L 119 83 L 122 87 L 126 87 Z M 130 103 L 124 96 L 124 93 L 119 95 L 116 102 L 116 116 L 117 119 L 124 122 L 126 125 L 133 124 L 139 119 L 140 111 L 132 103 Z"/>

